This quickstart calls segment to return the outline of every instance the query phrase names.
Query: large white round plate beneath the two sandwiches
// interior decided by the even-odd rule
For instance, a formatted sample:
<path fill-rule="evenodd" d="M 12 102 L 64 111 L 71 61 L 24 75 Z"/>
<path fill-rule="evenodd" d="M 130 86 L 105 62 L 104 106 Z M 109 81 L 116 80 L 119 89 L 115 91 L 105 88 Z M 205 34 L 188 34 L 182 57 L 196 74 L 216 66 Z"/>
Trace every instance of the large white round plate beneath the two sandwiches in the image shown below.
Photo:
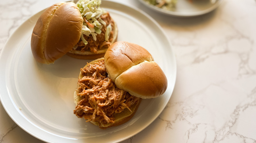
<path fill-rule="evenodd" d="M 11 119 L 45 142 L 120 142 L 153 122 L 171 97 L 176 61 L 172 46 L 159 24 L 144 12 L 119 3 L 102 1 L 101 7 L 117 22 L 118 41 L 139 44 L 152 54 L 167 75 L 168 88 L 158 98 L 142 100 L 134 117 L 120 126 L 101 130 L 78 119 L 73 114 L 73 93 L 79 70 L 89 61 L 66 55 L 51 65 L 34 60 L 30 40 L 41 11 L 14 32 L 1 52 L 0 95 Z"/>

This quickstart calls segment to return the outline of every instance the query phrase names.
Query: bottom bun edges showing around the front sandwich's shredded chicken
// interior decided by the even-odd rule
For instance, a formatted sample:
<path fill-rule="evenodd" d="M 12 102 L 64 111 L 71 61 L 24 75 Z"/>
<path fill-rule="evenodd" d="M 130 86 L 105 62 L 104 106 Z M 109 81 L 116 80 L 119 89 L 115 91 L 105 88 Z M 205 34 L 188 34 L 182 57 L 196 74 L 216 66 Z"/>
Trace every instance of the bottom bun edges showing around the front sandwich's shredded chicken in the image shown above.
<path fill-rule="evenodd" d="M 99 59 L 96 59 L 94 61 L 91 61 L 90 63 L 88 63 L 87 65 L 85 65 L 85 67 L 87 67 L 89 64 L 93 64 L 97 61 L 101 61 L 103 60 L 104 58 L 99 58 Z M 78 75 L 78 79 L 81 79 L 83 77 L 83 75 L 81 74 L 81 72 L 79 73 Z M 77 88 L 79 87 L 79 85 L 77 85 Z M 74 103 L 75 105 L 77 105 L 77 103 L 82 99 L 82 97 L 80 96 L 77 96 L 77 91 L 75 90 L 74 92 Z M 114 113 L 114 118 L 115 118 L 115 122 L 114 123 L 108 123 L 106 125 L 103 125 L 103 124 L 100 124 L 99 122 L 93 122 L 93 121 L 90 121 L 91 123 L 93 123 L 94 125 L 96 126 L 99 126 L 99 128 L 101 129 L 106 129 L 106 128 L 109 128 L 109 127 L 113 127 L 113 126 L 117 126 L 117 125 L 121 125 L 125 122 L 127 122 L 128 120 L 130 120 L 134 114 L 136 113 L 138 107 L 139 107 L 139 104 L 141 102 L 141 99 L 139 99 L 139 102 L 133 104 L 130 109 L 132 110 L 132 112 L 130 112 L 127 108 L 125 108 L 122 112 L 120 113 Z"/>

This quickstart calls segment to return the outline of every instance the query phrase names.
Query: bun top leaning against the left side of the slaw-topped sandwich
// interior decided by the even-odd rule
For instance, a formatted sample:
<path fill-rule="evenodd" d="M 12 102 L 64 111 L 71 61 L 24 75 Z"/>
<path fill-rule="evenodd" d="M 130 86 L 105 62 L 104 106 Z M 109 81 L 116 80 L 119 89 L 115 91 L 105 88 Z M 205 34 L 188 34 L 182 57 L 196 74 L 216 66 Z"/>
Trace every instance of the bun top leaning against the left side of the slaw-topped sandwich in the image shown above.
<path fill-rule="evenodd" d="M 75 3 L 57 3 L 39 17 L 31 37 L 36 61 L 53 63 L 70 51 L 81 37 L 83 18 Z"/>

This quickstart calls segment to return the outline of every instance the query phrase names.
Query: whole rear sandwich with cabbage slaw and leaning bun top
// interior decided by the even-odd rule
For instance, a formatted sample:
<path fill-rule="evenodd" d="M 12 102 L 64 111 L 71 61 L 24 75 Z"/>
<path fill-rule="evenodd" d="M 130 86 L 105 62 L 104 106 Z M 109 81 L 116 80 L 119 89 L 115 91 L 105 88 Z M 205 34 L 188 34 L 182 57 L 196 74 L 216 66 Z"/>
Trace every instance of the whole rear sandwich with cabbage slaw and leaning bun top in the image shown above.
<path fill-rule="evenodd" d="M 79 0 L 47 8 L 32 32 L 35 60 L 51 64 L 65 54 L 79 59 L 103 57 L 117 40 L 117 24 L 100 4 L 101 0 Z"/>

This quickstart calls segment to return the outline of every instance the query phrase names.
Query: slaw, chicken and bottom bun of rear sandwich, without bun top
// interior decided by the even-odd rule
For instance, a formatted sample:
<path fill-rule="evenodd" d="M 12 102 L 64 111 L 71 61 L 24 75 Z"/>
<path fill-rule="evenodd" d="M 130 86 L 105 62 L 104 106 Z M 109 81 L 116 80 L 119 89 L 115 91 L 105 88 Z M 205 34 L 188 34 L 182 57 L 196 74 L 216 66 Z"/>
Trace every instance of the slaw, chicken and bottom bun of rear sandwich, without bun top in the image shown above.
<path fill-rule="evenodd" d="M 95 59 L 103 57 L 107 48 L 117 40 L 117 24 L 109 12 L 100 8 L 100 0 L 79 0 L 76 5 L 83 17 L 82 34 L 67 55 Z"/>

